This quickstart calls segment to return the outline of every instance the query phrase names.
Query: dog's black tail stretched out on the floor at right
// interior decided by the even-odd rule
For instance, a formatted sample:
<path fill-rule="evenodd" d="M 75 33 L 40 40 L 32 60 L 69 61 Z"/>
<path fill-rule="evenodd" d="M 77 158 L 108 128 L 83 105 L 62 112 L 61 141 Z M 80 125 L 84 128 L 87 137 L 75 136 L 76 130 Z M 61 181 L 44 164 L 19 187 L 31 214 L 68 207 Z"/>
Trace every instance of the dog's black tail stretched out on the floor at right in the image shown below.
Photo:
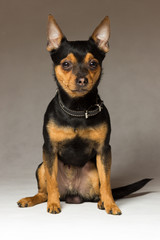
<path fill-rule="evenodd" d="M 132 184 L 127 185 L 127 186 L 114 188 L 114 189 L 112 189 L 113 198 L 116 200 L 116 199 L 120 199 L 120 198 L 123 198 L 125 196 L 128 196 L 129 194 L 131 194 L 133 192 L 136 192 L 139 189 L 141 189 L 144 185 L 146 185 L 151 180 L 152 180 L 152 178 L 145 178 L 141 181 L 132 183 Z"/>

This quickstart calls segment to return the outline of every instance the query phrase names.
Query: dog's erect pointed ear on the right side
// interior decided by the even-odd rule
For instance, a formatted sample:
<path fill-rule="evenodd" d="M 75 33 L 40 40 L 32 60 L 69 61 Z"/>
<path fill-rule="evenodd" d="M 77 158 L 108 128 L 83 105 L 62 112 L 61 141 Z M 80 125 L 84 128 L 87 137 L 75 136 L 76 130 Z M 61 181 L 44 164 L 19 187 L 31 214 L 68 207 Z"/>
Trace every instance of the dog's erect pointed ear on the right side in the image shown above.
<path fill-rule="evenodd" d="M 92 34 L 92 39 L 95 41 L 98 48 L 105 53 L 109 51 L 109 36 L 110 21 L 109 17 L 105 17 Z"/>

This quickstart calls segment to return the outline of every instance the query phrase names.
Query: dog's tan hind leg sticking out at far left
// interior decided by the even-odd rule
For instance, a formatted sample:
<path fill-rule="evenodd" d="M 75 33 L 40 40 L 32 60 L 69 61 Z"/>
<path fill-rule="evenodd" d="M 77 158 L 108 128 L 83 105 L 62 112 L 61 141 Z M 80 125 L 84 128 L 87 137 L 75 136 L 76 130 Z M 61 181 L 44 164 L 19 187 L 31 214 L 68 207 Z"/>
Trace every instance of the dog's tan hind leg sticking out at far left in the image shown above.
<path fill-rule="evenodd" d="M 36 204 L 47 201 L 47 183 L 43 163 L 41 163 L 37 168 L 36 178 L 38 184 L 38 193 L 33 197 L 26 197 L 19 200 L 17 202 L 19 207 L 32 207 Z"/>

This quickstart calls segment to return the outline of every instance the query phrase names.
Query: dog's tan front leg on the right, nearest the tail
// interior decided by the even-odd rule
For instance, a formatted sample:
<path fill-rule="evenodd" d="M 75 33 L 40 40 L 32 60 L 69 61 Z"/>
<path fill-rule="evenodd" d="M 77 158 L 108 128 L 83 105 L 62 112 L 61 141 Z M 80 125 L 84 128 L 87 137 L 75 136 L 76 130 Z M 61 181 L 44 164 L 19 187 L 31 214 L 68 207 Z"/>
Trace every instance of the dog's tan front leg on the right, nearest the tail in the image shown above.
<path fill-rule="evenodd" d="M 105 209 L 107 213 L 120 215 L 121 211 L 114 202 L 110 185 L 111 171 L 111 147 L 103 147 L 97 154 L 97 169 L 100 180 L 99 209 Z"/>

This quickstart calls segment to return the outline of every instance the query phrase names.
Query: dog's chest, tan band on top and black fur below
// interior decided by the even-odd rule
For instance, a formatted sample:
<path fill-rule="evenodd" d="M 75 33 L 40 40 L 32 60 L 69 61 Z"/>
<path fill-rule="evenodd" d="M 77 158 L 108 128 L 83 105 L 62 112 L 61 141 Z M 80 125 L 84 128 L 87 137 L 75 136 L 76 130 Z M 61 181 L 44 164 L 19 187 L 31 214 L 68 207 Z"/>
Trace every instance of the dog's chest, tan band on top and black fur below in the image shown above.
<path fill-rule="evenodd" d="M 70 126 L 59 126 L 51 120 L 47 131 L 61 161 L 69 165 L 84 166 L 103 145 L 107 125 L 74 129 Z"/>

